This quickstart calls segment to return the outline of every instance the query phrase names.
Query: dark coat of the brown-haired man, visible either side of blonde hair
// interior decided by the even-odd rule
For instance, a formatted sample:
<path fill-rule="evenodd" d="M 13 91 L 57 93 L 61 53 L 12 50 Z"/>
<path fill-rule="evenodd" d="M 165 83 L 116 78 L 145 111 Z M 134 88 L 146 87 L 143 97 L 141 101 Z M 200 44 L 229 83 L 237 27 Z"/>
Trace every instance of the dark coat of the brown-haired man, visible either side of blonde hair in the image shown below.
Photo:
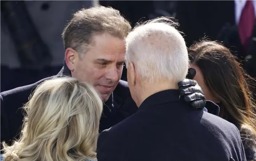
<path fill-rule="evenodd" d="M 58 75 L 71 75 L 67 66 L 64 65 Z M 14 138 L 19 138 L 22 126 L 22 106 L 28 102 L 28 98 L 36 86 L 48 77 L 28 86 L 18 87 L 1 93 L 1 142 L 11 144 Z M 137 111 L 138 107 L 131 98 L 126 81 L 120 80 L 112 95 L 103 106 L 103 114 L 100 120 L 100 129 L 103 131 L 116 123 L 124 120 Z"/>

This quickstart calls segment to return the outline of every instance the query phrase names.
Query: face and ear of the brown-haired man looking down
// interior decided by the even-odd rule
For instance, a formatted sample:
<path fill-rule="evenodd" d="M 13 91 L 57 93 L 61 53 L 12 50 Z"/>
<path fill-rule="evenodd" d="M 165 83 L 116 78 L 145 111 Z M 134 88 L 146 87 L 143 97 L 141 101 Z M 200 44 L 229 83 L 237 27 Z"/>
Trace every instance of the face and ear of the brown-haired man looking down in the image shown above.
<path fill-rule="evenodd" d="M 90 82 L 106 101 L 121 79 L 125 52 L 124 39 L 104 33 L 93 37 L 82 59 L 74 49 L 67 48 L 65 61 L 72 77 Z"/>

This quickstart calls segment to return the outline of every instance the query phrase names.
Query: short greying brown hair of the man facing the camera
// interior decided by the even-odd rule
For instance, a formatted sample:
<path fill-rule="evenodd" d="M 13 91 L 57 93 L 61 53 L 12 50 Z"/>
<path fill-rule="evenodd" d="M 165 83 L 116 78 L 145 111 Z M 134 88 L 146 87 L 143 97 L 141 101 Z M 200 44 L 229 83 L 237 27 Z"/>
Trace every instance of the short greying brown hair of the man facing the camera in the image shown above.
<path fill-rule="evenodd" d="M 64 28 L 62 38 L 64 47 L 73 48 L 80 54 L 92 43 L 94 35 L 109 33 L 118 38 L 125 38 L 131 30 L 130 23 L 118 10 L 111 7 L 90 7 L 74 13 L 73 18 Z"/>

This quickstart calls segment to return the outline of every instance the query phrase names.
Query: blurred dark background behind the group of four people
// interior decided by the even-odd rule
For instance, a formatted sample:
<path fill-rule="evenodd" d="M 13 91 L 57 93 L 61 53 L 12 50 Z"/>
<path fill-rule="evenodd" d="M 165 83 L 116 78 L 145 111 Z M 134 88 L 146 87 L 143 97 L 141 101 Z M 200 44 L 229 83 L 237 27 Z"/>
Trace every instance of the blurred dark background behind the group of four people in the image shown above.
<path fill-rule="evenodd" d="M 159 16 L 180 23 L 187 47 L 202 38 L 218 40 L 230 48 L 244 69 L 256 77 L 256 25 L 248 47 L 241 45 L 239 20 L 243 1 L 3 1 L 1 0 L 0 90 L 35 83 L 55 75 L 63 66 L 61 33 L 72 13 L 96 6 L 111 6 L 132 26 Z M 256 6 L 256 1 L 252 1 Z M 256 7 L 255 7 L 256 8 Z M 255 20 L 255 13 L 252 19 Z M 247 20 L 252 21 L 250 17 Z M 126 80 L 126 70 L 122 75 Z"/>

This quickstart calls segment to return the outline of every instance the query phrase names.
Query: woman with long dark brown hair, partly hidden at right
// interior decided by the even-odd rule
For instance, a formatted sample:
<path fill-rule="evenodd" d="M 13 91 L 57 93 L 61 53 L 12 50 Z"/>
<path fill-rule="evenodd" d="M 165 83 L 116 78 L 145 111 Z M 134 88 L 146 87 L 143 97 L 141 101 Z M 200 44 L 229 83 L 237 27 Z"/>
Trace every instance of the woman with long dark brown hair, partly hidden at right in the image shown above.
<path fill-rule="evenodd" d="M 217 42 L 199 42 L 189 48 L 189 54 L 191 67 L 196 70 L 194 80 L 205 98 L 220 106 L 220 117 L 237 126 L 246 159 L 256 161 L 256 106 L 249 85 L 255 84 L 255 80 L 244 72 L 231 52 Z"/>

